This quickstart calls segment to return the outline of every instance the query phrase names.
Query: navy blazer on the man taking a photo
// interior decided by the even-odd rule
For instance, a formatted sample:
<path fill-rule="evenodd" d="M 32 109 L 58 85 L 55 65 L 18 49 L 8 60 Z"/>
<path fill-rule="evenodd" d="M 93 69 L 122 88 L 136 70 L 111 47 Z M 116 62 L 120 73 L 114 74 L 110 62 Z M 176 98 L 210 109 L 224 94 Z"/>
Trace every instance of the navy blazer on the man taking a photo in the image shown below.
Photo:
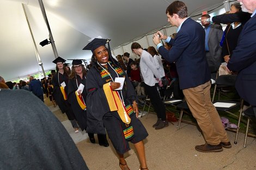
<path fill-rule="evenodd" d="M 205 58 L 205 31 L 199 23 L 187 18 L 169 44 L 173 45 L 169 51 L 161 46 L 159 53 L 168 62 L 175 62 L 180 89 L 196 87 L 210 80 Z"/>

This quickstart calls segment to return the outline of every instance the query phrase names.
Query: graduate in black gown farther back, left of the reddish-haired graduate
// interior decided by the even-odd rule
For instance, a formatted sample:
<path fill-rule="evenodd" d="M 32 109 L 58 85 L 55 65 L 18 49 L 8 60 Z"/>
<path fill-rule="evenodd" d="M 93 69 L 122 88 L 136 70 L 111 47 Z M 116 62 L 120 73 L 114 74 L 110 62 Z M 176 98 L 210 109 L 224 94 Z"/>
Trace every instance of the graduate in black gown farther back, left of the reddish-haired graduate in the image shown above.
<path fill-rule="evenodd" d="M 78 124 L 76 123 L 76 118 L 74 115 L 74 112 L 71 109 L 71 106 L 68 102 L 68 96 L 66 95 L 68 93 L 68 72 L 66 71 L 64 67 L 64 60 L 60 56 L 58 56 L 57 59 L 53 60 L 52 62 L 56 64 L 56 70 L 57 73 L 54 74 L 52 78 L 52 84 L 53 84 L 53 98 L 56 100 L 56 103 L 59 106 L 59 109 L 62 110 L 62 113 L 66 113 L 66 116 L 68 116 L 72 127 L 75 129 L 75 133 L 78 133 Z"/>

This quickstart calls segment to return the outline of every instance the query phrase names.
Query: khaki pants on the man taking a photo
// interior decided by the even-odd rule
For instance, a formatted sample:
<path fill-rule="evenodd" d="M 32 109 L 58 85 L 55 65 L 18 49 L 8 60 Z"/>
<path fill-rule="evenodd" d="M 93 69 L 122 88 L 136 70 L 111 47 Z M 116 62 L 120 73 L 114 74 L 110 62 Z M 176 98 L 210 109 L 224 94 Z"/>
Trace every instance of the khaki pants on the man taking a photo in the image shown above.
<path fill-rule="evenodd" d="M 205 141 L 216 145 L 229 142 L 220 115 L 211 102 L 210 81 L 205 84 L 183 90 L 188 107 L 203 132 Z"/>

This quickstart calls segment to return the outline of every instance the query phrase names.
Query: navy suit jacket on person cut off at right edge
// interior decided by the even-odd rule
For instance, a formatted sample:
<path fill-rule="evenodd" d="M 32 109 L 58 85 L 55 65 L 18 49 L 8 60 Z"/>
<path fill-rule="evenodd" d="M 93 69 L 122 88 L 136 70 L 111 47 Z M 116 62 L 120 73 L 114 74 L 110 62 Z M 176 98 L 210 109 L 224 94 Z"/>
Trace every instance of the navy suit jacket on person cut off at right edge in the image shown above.
<path fill-rule="evenodd" d="M 236 90 L 240 97 L 256 106 L 256 15 L 243 26 L 228 68 L 238 72 Z"/>

